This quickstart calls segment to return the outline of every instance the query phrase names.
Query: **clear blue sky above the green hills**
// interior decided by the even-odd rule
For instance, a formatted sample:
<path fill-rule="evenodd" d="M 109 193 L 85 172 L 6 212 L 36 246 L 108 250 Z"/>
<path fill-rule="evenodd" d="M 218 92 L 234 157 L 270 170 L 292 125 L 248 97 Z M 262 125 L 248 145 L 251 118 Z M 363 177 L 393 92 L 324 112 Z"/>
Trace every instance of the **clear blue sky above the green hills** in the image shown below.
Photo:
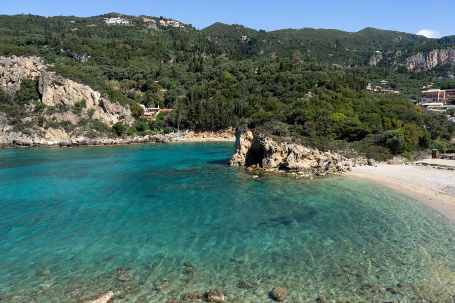
<path fill-rule="evenodd" d="M 284 28 L 334 28 L 358 31 L 365 27 L 433 35 L 455 35 L 454 0 L 279 0 L 279 1 L 2 1 L 1 14 L 88 17 L 115 12 L 173 18 L 202 29 L 215 22 L 238 23 L 266 31 Z M 441 17 L 438 17 L 438 13 Z M 431 34 L 431 31 L 430 31 Z"/>

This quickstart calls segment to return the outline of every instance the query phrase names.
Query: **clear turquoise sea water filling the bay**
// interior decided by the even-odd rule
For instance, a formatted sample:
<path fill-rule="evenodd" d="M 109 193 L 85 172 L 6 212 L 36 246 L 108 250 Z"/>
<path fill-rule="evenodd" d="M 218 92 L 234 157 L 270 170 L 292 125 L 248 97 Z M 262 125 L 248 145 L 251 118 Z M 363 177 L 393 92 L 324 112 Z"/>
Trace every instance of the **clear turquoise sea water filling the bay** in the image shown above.
<path fill-rule="evenodd" d="M 232 142 L 0 150 L 0 302 L 455 302 L 455 224 L 380 185 L 258 178 Z M 244 281 L 252 288 L 243 288 Z M 397 286 L 398 285 L 398 286 Z"/>

